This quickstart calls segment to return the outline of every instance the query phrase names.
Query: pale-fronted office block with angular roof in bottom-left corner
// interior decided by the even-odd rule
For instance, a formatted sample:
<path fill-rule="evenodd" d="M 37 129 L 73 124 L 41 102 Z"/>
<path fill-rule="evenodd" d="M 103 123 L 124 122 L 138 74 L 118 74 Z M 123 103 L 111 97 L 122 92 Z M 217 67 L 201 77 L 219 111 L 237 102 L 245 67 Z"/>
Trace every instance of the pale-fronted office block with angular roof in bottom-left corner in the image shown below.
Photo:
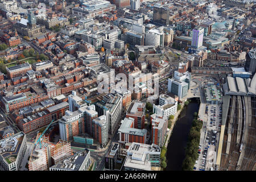
<path fill-rule="evenodd" d="M 19 171 L 26 150 L 26 134 L 22 131 L 0 140 L 0 165 L 5 171 Z"/>

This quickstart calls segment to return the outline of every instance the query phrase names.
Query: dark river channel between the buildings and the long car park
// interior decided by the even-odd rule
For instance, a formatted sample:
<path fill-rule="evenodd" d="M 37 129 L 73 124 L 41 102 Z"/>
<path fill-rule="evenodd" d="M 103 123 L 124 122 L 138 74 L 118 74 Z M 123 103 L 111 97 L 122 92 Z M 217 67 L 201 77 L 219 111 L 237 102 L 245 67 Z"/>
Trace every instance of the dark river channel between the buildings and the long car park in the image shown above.
<path fill-rule="evenodd" d="M 193 98 L 189 105 L 184 106 L 176 121 L 170 143 L 167 146 L 166 171 L 181 171 L 182 162 L 185 158 L 188 134 L 192 126 L 193 114 L 198 113 L 200 101 Z"/>

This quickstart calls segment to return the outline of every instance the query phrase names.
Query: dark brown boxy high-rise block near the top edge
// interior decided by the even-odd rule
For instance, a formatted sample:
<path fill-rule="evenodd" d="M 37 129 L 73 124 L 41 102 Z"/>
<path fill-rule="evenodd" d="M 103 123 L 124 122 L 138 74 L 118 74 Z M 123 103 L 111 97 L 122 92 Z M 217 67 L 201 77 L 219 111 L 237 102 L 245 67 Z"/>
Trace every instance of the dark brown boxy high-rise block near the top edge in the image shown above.
<path fill-rule="evenodd" d="M 170 9 L 163 7 L 159 3 L 154 5 L 153 21 L 163 26 L 169 24 Z"/>

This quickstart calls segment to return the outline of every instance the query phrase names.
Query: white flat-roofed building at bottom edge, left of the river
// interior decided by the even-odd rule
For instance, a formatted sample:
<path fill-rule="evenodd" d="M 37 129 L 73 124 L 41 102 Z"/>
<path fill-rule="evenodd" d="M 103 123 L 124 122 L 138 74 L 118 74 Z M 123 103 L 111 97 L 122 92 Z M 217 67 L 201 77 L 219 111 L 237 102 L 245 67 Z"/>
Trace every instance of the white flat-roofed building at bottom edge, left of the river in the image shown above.
<path fill-rule="evenodd" d="M 152 171 L 160 167 L 160 147 L 133 142 L 123 164 L 125 171 Z"/>

